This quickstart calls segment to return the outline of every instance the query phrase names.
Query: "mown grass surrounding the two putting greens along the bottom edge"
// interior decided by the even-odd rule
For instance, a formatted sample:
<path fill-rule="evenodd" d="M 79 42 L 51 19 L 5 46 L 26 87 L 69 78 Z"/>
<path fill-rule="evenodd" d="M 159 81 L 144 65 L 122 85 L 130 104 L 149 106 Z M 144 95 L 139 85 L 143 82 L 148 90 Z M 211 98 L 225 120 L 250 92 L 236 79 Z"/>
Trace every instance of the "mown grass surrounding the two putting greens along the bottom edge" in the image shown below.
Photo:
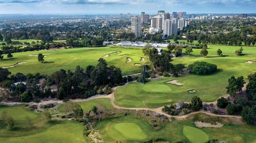
<path fill-rule="evenodd" d="M 204 132 L 203 136 L 205 136 L 205 138 L 199 136 L 199 138 L 196 139 L 198 141 L 200 141 L 202 138 L 204 141 L 218 139 L 225 140 L 226 142 L 244 143 L 255 142 L 256 140 L 256 127 L 248 125 L 225 125 L 221 128 L 207 127 L 203 129 L 197 129 L 193 123 L 188 123 L 186 121 L 172 121 L 167 123 L 167 125 L 165 125 L 165 127 L 162 129 L 154 131 L 154 129 L 145 121 L 142 121 L 141 119 L 135 118 L 133 116 L 125 116 L 119 118 L 109 118 L 98 123 L 97 127 L 100 129 L 100 133 L 103 136 L 104 142 L 139 142 L 139 140 L 131 140 L 132 133 L 130 136 L 125 137 L 122 136 L 120 132 L 115 131 L 115 125 L 119 125 L 120 123 L 132 123 L 138 125 L 147 135 L 147 138 L 145 138 L 143 141 L 161 138 L 168 140 L 169 142 L 191 142 L 188 140 L 188 138 L 186 138 L 186 136 L 184 136 L 184 127 L 195 129 L 196 132 L 193 131 L 193 133 L 198 133 L 199 131 L 200 133 Z"/>

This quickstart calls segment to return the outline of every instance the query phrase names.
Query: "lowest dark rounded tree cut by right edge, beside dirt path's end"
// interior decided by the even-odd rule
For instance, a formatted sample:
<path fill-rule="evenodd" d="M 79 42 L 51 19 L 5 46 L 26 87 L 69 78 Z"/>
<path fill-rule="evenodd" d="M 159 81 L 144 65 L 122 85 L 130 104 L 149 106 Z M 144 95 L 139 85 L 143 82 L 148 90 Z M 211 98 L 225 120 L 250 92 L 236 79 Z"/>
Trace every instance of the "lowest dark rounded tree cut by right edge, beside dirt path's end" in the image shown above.
<path fill-rule="evenodd" d="M 256 106 L 243 108 L 242 119 L 250 125 L 256 125 Z"/>

